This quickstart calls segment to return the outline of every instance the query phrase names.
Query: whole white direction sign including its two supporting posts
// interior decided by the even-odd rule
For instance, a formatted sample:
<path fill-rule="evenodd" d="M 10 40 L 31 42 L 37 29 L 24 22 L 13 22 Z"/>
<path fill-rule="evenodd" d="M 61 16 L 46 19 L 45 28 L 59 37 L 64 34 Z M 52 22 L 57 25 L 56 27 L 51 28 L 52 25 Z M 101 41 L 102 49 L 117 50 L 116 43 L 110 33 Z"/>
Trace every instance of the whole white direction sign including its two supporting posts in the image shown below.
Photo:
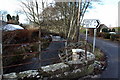
<path fill-rule="evenodd" d="M 87 53 L 87 29 L 93 28 L 94 29 L 94 39 L 93 39 L 93 53 L 95 51 L 95 40 L 96 40 L 96 29 L 99 27 L 100 21 L 98 19 L 84 19 L 83 20 L 83 26 L 86 28 L 86 48 L 85 48 L 85 54 Z M 86 56 L 87 57 L 87 56 Z"/>

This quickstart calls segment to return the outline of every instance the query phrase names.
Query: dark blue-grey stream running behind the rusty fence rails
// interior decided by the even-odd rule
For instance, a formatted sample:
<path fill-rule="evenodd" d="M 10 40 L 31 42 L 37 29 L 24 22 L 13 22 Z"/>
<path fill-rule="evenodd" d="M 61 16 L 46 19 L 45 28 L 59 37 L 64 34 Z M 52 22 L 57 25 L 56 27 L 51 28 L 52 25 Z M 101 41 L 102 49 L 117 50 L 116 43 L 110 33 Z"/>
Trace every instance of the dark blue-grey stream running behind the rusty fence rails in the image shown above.
<path fill-rule="evenodd" d="M 20 65 L 17 67 L 10 67 L 3 69 L 4 74 L 11 73 L 11 72 L 21 72 L 26 70 L 35 70 L 40 68 L 41 66 L 46 66 L 50 64 L 54 64 L 59 61 L 58 57 L 58 49 L 64 47 L 64 39 L 60 36 L 52 36 L 52 41 L 46 51 L 43 51 L 41 54 L 42 62 L 38 60 L 38 57 L 33 57 L 28 60 L 24 60 L 21 63 L 32 62 L 31 64 Z M 51 59 L 52 58 L 52 59 Z M 54 58 L 54 59 L 53 59 Z M 41 66 L 40 66 L 41 65 Z"/>

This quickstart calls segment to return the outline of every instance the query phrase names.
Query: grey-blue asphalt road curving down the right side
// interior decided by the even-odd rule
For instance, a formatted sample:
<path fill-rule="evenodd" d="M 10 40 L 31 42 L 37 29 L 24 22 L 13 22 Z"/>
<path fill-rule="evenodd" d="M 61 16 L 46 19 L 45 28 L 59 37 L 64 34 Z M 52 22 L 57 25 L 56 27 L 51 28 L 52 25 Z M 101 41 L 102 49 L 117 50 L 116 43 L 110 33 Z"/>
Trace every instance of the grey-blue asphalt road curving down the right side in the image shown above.
<path fill-rule="evenodd" d="M 84 35 L 81 35 L 81 37 L 84 38 Z M 88 37 L 88 42 L 92 43 L 93 37 Z M 118 60 L 120 55 L 118 55 L 118 53 L 120 53 L 120 44 L 96 38 L 96 47 L 106 54 L 108 61 L 108 66 L 106 70 L 103 71 L 100 78 L 118 78 L 118 63 L 120 63 Z"/>

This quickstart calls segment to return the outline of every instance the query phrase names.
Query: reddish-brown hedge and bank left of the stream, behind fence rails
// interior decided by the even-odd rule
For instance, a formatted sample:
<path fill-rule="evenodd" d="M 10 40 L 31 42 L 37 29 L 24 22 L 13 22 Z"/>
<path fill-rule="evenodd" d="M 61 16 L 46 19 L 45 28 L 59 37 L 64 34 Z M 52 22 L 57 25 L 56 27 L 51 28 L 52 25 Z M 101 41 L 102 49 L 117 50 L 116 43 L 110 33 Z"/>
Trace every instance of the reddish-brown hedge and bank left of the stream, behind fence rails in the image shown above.
<path fill-rule="evenodd" d="M 50 34 L 48 34 L 45 30 L 43 31 L 44 32 L 42 32 L 41 38 L 42 50 L 47 48 L 49 46 L 50 41 L 52 40 L 49 36 Z M 48 38 L 45 38 L 45 36 L 48 36 Z M 38 40 L 39 38 L 37 29 L 3 32 L 3 56 L 5 56 L 3 58 L 3 65 L 6 66 L 16 62 L 20 63 L 25 59 L 37 56 L 37 54 L 30 55 L 29 53 L 38 52 Z"/>

